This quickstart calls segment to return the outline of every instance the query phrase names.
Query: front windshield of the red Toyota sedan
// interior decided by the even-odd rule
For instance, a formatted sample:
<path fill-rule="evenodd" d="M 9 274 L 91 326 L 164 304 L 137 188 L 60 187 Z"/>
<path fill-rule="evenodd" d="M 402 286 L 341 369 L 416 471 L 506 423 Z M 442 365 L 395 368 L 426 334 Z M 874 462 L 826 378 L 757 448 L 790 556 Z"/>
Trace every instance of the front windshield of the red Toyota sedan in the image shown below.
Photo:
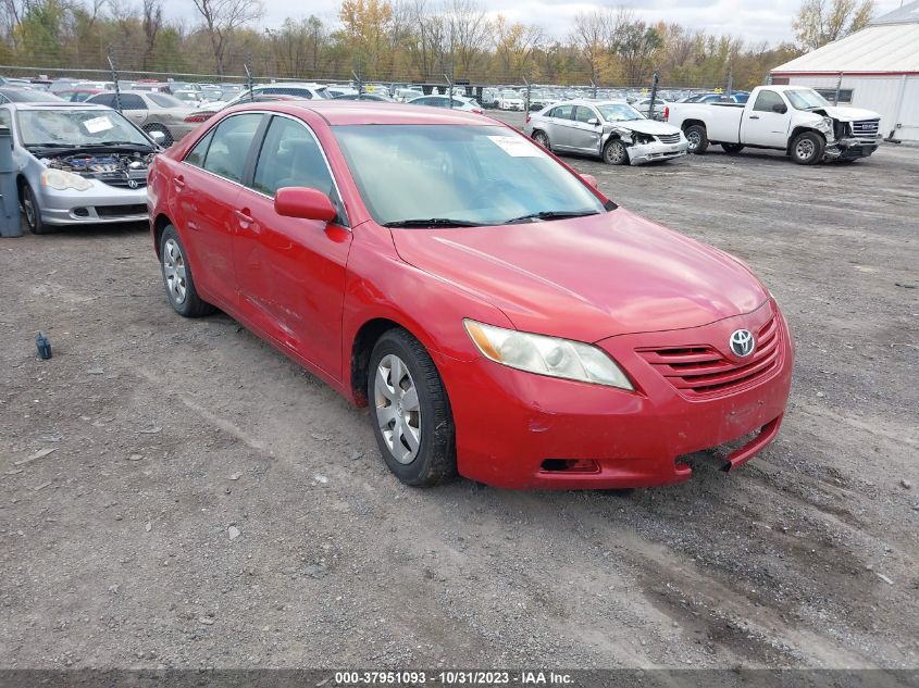
<path fill-rule="evenodd" d="M 499 225 L 538 214 L 604 211 L 580 179 L 502 126 L 347 125 L 333 130 L 368 210 L 383 225 Z"/>

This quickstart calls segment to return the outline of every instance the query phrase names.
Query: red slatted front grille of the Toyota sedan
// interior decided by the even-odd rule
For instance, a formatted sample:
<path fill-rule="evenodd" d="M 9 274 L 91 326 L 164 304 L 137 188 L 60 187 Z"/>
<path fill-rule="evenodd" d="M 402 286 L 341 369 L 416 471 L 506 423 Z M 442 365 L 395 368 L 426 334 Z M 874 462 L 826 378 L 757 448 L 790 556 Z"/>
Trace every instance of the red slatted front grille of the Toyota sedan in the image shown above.
<path fill-rule="evenodd" d="M 750 387 L 779 366 L 782 333 L 778 317 L 773 315 L 755 336 L 756 349 L 741 361 L 725 358 L 710 345 L 638 349 L 637 352 L 686 397 L 715 397 Z"/>

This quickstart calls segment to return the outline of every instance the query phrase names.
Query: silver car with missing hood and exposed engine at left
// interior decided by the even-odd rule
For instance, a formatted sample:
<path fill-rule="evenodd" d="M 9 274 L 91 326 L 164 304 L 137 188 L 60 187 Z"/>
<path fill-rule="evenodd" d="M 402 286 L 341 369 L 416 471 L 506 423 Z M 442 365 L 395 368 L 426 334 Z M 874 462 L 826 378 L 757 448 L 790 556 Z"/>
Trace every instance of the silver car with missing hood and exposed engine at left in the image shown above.
<path fill-rule="evenodd" d="M 85 103 L 8 103 L 16 186 L 33 234 L 147 220 L 147 167 L 161 150 L 123 115 Z"/>

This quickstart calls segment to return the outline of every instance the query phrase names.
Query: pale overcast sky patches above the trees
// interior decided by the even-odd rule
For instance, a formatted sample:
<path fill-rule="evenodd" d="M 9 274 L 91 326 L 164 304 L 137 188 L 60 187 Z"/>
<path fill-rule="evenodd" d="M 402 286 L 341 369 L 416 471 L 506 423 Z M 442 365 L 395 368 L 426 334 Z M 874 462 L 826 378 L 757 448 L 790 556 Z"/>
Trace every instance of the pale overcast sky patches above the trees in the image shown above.
<path fill-rule="evenodd" d="M 265 27 L 277 26 L 287 16 L 303 18 L 310 14 L 335 22 L 339 5 L 338 0 L 263 0 L 263 3 L 265 14 L 262 24 Z M 750 41 L 778 43 L 793 38 L 792 18 L 800 3 L 802 0 L 632 0 L 624 4 L 632 7 L 636 15 L 646 22 L 678 22 L 712 33 L 740 35 Z M 164 4 L 169 16 L 197 23 L 190 0 L 165 0 Z M 557 38 L 568 35 L 572 16 L 599 4 L 586 0 L 483 2 L 489 13 L 500 12 L 511 21 L 537 23 L 547 35 Z M 879 14 L 883 14 L 897 9 L 901 0 L 877 0 L 877 4 Z"/>

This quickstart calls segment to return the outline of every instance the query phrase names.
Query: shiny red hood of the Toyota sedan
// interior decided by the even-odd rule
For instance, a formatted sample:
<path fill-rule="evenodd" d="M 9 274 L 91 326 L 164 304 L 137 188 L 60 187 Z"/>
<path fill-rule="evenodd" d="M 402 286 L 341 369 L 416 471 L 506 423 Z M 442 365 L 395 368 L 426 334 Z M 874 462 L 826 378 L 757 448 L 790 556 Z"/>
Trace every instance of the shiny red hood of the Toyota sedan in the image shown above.
<path fill-rule="evenodd" d="M 740 261 L 621 208 L 392 233 L 402 260 L 493 303 L 517 328 L 581 341 L 697 327 L 769 298 Z"/>

